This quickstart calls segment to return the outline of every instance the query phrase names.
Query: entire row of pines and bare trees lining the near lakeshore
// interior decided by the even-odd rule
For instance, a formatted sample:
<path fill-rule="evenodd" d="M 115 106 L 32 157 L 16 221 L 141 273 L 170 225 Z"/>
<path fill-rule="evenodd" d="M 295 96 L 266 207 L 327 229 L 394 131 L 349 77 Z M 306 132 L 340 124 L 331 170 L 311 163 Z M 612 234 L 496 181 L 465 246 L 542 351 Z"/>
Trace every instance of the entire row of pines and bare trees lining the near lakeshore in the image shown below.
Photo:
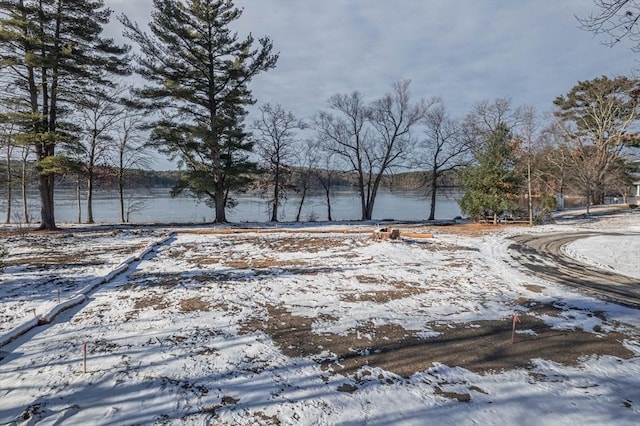
<path fill-rule="evenodd" d="M 275 221 L 287 194 L 304 200 L 311 185 L 325 191 L 331 218 L 332 188 L 345 176 L 360 194 L 361 219 L 371 219 L 381 186 L 407 170 L 428 187 L 431 220 L 438 191 L 452 183 L 475 220 L 523 210 L 533 221 L 564 194 L 589 205 L 631 193 L 640 141 L 635 78 L 578 82 L 544 119 L 502 98 L 455 118 L 438 97 L 412 98 L 405 80 L 371 102 L 357 91 L 336 94 L 304 119 L 265 102 L 247 125 L 256 102 L 249 84 L 278 55 L 268 37 L 230 30 L 241 17 L 232 1 L 155 0 L 148 29 L 119 16 L 135 55 L 101 36 L 111 15 L 100 0 L 0 1 L 2 176 L 8 197 L 14 179 L 37 181 L 42 229 L 56 228 L 61 179 L 85 192 L 87 222 L 96 185 L 111 179 L 124 221 L 124 188 L 153 152 L 181 168 L 173 193 L 206 202 L 215 222 L 225 222 L 234 194 L 248 189 L 269 194 Z M 145 84 L 127 83 L 132 73 Z"/>

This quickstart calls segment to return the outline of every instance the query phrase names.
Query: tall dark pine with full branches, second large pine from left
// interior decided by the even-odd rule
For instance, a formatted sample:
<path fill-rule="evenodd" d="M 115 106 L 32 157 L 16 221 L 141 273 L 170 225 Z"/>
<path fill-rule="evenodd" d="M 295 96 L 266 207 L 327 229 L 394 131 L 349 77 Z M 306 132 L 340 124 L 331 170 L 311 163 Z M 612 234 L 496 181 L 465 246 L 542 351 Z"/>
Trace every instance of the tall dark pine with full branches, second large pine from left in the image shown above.
<path fill-rule="evenodd" d="M 230 0 L 154 0 L 152 34 L 122 17 L 125 35 L 141 50 L 137 72 L 149 84 L 138 90 L 153 110 L 158 148 L 177 158 L 186 173 L 174 193 L 189 191 L 226 222 L 230 191 L 242 190 L 256 169 L 244 131 L 248 84 L 278 59 L 268 38 L 240 40 L 229 26 L 241 11 Z"/>

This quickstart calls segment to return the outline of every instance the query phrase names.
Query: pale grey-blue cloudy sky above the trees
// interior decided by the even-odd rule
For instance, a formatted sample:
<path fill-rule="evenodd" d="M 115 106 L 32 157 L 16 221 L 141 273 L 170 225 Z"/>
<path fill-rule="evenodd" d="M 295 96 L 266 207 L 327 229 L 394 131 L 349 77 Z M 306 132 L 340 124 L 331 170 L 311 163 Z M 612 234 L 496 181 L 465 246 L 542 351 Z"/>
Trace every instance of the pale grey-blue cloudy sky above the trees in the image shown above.
<path fill-rule="evenodd" d="M 152 0 L 105 0 L 145 27 Z M 453 116 L 481 100 L 511 98 L 549 111 L 578 81 L 631 75 L 640 55 L 578 28 L 592 0 L 237 0 L 241 37 L 268 36 L 275 69 L 251 88 L 258 105 L 300 118 L 337 93 L 384 95 L 411 80 L 414 98 L 440 96 Z M 115 21 L 115 19 L 114 19 Z M 119 24 L 109 31 L 121 32 Z"/>

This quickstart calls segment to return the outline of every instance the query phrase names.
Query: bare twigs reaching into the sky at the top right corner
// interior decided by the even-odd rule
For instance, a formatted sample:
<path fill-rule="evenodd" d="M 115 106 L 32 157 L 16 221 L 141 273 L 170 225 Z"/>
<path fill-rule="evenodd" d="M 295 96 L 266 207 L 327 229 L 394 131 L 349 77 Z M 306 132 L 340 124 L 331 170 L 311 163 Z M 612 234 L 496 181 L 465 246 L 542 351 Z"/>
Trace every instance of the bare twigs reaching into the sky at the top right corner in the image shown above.
<path fill-rule="evenodd" d="M 638 0 L 594 0 L 597 12 L 578 17 L 580 27 L 596 35 L 606 35 L 603 43 L 614 46 L 625 38 L 635 43 L 632 50 L 640 52 L 640 2 Z"/>

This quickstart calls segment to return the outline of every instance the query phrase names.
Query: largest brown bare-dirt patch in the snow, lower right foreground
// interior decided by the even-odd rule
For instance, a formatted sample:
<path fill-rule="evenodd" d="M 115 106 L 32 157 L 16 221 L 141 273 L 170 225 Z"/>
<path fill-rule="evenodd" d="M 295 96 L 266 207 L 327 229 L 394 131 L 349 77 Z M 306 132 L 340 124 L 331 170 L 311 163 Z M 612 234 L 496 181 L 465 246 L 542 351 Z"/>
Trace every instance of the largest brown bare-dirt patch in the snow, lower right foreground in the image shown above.
<path fill-rule="evenodd" d="M 526 368 L 542 358 L 564 365 L 577 365 L 584 357 L 612 355 L 631 358 L 623 346 L 628 336 L 617 333 L 588 333 L 555 330 L 533 314 L 520 315 L 517 333 L 511 341 L 511 318 L 473 323 L 434 323 L 437 337 L 421 338 L 399 325 L 366 324 L 346 335 L 312 331 L 315 318 L 292 315 L 285 308 L 266 306 L 268 318 L 244 324 L 242 332 L 262 331 L 290 357 L 315 357 L 323 368 L 353 376 L 364 366 L 379 367 L 403 377 L 425 371 L 434 363 L 459 366 L 477 373 Z M 540 305 L 545 313 L 561 309 Z M 539 313 L 539 312 L 536 312 Z M 319 359 L 325 351 L 333 356 Z"/>

